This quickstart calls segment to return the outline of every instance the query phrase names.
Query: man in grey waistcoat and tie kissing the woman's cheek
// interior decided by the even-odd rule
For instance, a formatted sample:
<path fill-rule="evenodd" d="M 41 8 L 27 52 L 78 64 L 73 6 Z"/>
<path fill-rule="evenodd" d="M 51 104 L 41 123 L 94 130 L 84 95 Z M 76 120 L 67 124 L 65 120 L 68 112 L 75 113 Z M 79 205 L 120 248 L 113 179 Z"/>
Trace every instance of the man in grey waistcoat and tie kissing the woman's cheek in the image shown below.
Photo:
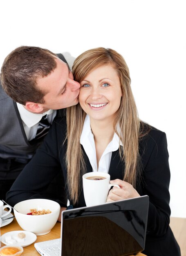
<path fill-rule="evenodd" d="M 60 109 L 78 103 L 80 85 L 70 71 L 74 58 L 68 53 L 59 56 L 63 61 L 47 49 L 22 46 L 4 60 L 0 85 L 1 200 L 35 154 L 54 117 L 63 115 Z M 59 182 L 53 181 L 45 191 L 49 197 L 59 191 L 58 186 L 64 189 L 60 178 L 56 180 Z"/>

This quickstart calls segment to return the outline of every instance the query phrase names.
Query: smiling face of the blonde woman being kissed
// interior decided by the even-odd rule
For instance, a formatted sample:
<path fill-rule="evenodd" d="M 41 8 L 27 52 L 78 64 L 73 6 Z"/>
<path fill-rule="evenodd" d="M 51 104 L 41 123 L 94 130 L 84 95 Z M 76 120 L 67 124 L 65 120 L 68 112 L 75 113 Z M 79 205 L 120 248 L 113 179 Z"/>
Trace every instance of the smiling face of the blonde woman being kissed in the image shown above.
<path fill-rule="evenodd" d="M 112 65 L 102 65 L 80 83 L 79 103 L 90 119 L 113 120 L 122 92 L 119 76 Z"/>

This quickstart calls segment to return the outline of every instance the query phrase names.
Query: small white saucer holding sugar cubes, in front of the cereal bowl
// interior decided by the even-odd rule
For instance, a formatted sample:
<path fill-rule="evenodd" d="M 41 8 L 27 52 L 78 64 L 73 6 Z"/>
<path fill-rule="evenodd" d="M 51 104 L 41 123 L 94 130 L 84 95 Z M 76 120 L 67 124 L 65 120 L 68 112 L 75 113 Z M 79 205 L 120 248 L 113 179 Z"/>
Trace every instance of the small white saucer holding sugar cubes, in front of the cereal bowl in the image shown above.
<path fill-rule="evenodd" d="M 7 232 L 7 233 L 3 234 L 1 236 L 1 242 L 4 243 L 5 245 L 9 245 L 8 243 L 5 242 L 5 237 L 7 235 L 14 236 L 14 235 L 17 235 L 18 233 L 22 233 L 22 232 L 25 233 L 25 235 L 26 235 L 25 241 L 20 242 L 20 243 L 15 243 L 14 245 L 25 247 L 25 246 L 31 245 L 32 243 L 34 243 L 36 241 L 37 236 L 34 233 L 25 231 L 25 230 L 20 230 L 20 231 L 11 231 L 11 232 Z"/>

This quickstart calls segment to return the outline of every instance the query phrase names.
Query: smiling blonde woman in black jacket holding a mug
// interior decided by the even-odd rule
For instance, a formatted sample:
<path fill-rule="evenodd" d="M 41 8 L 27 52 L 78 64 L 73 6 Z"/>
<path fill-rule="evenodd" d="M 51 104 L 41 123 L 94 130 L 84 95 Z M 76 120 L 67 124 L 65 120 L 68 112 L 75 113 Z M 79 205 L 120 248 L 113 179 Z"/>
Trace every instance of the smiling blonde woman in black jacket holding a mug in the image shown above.
<path fill-rule="evenodd" d="M 149 196 L 144 254 L 179 256 L 169 227 L 166 135 L 139 120 L 123 57 L 112 49 L 88 50 L 76 58 L 73 74 L 81 84 L 79 104 L 67 109 L 67 127 L 66 120 L 53 122 L 8 193 L 9 203 L 42 197 L 41 191 L 62 169 L 70 203 L 83 207 L 82 175 L 104 171 L 121 188 L 110 191 L 108 202 Z"/>

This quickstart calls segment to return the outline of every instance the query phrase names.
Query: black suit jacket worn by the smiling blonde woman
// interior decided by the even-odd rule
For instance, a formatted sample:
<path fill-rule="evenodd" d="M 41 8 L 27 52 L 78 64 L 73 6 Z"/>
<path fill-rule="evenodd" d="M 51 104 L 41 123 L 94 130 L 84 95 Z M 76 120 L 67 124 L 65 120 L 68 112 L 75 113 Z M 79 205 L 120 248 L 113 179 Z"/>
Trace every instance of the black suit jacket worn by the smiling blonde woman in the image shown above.
<path fill-rule="evenodd" d="M 7 201 L 10 205 L 31 198 L 43 198 L 42 191 L 61 170 L 66 182 L 66 144 L 63 144 L 65 132 L 65 118 L 54 119 L 44 143 L 7 193 Z M 144 254 L 148 256 L 179 256 L 179 246 L 169 227 L 170 170 L 165 133 L 151 128 L 148 135 L 141 139 L 139 149 L 142 177 L 137 184 L 137 191 L 140 195 L 148 195 L 150 200 Z M 87 172 L 92 172 L 92 166 L 85 152 L 84 157 Z M 112 153 L 109 174 L 111 180 L 116 178 L 123 180 L 123 165 L 118 150 Z M 80 187 L 82 188 L 82 181 Z M 66 189 L 68 191 L 68 188 Z M 56 201 L 64 206 L 59 200 Z M 81 190 L 79 201 L 74 207 L 83 206 L 85 206 L 85 200 L 83 190 Z"/>

